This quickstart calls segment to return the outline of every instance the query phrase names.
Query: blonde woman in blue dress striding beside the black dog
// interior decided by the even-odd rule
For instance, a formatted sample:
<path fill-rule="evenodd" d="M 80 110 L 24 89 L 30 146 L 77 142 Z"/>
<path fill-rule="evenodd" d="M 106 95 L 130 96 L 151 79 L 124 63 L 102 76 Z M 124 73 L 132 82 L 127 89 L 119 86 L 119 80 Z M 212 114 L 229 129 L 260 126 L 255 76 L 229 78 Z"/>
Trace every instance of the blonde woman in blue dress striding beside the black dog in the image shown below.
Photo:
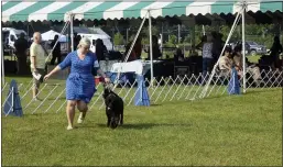
<path fill-rule="evenodd" d="M 78 123 L 83 123 L 88 110 L 87 104 L 96 92 L 95 80 L 91 74 L 92 67 L 105 78 L 106 82 L 110 81 L 109 78 L 106 78 L 105 73 L 100 70 L 97 57 L 94 53 L 89 52 L 89 47 L 90 41 L 86 37 L 81 38 L 78 44 L 78 49 L 69 53 L 58 66 L 44 77 L 44 80 L 46 80 L 55 73 L 70 67 L 70 74 L 66 80 L 67 130 L 74 129 L 73 122 L 76 105 L 80 111 Z"/>

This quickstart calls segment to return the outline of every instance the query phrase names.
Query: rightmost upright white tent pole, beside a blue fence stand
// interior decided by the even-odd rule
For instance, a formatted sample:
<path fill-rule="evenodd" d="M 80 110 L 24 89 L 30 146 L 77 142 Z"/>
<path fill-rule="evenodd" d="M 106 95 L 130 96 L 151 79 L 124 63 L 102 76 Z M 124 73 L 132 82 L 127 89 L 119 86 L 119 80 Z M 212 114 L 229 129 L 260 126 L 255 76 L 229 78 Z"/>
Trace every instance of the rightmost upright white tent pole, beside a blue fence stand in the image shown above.
<path fill-rule="evenodd" d="M 247 80 L 246 80 L 246 38 L 244 38 L 244 12 L 246 12 L 246 1 L 242 3 L 242 81 L 243 81 L 243 93 L 247 91 Z"/>

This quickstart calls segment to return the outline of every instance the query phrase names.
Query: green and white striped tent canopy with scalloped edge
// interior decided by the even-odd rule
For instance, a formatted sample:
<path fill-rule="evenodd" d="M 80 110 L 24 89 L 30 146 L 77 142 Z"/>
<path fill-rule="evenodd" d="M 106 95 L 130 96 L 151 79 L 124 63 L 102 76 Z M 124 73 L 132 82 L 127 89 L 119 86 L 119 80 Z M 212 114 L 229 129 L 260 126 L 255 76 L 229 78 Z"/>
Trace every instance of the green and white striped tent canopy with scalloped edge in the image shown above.
<path fill-rule="evenodd" d="M 236 13 L 242 0 L 160 0 L 160 1 L 3 1 L 2 22 L 64 21 L 67 13 L 77 20 L 143 18 L 151 10 L 153 18 L 174 15 Z M 283 11 L 283 1 L 248 0 L 248 11 Z"/>

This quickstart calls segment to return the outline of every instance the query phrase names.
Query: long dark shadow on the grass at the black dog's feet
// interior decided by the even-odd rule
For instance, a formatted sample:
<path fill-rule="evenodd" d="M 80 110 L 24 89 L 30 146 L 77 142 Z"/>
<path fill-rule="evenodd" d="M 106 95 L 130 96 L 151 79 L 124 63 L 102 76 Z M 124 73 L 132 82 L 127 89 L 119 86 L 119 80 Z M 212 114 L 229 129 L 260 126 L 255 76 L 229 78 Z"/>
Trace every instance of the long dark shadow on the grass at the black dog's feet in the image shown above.
<path fill-rule="evenodd" d="M 106 124 L 96 124 L 99 127 L 105 127 L 108 129 L 106 126 Z M 152 129 L 152 127 L 160 127 L 160 126 L 192 126 L 193 124 L 181 124 L 181 123 L 137 123 L 137 124 L 123 124 L 123 125 L 119 125 L 118 129 L 126 129 L 126 130 L 144 130 L 144 129 Z"/>

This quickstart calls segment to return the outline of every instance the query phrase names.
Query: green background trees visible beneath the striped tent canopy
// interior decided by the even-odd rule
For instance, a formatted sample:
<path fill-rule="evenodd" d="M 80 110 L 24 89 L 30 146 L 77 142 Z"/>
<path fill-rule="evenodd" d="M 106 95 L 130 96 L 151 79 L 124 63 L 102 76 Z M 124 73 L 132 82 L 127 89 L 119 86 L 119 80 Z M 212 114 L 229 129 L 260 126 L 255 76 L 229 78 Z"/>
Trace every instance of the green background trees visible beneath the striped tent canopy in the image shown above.
<path fill-rule="evenodd" d="M 196 44 L 200 42 L 200 38 L 203 36 L 203 33 L 209 33 L 211 31 L 217 31 L 216 27 L 206 25 L 203 27 L 203 25 L 196 25 L 195 26 L 195 42 Z M 222 41 L 226 41 L 228 37 L 228 34 L 231 30 L 231 26 L 229 25 L 222 25 L 218 27 L 218 31 L 224 35 Z M 138 29 L 131 29 L 131 31 L 128 30 L 128 42 L 131 42 L 135 33 L 138 32 Z M 163 31 L 164 32 L 164 31 Z M 163 33 L 163 44 L 164 46 L 172 47 L 177 44 L 192 44 L 192 34 L 191 30 L 184 25 L 182 25 L 179 32 L 176 30 L 176 26 L 172 26 L 171 29 L 166 29 L 166 31 Z M 160 36 L 162 33 L 162 30 L 157 26 L 152 26 L 152 34 Z M 259 44 L 265 45 L 268 48 L 271 47 L 273 43 L 274 34 L 276 34 L 276 30 L 274 29 L 274 24 L 248 24 L 246 25 L 246 40 L 247 41 L 253 41 Z M 146 45 L 149 44 L 149 27 L 143 27 L 141 31 L 140 36 L 142 37 L 142 44 Z M 178 40 L 178 36 L 181 37 Z M 238 25 L 231 36 L 230 42 L 236 42 L 241 40 L 241 25 Z M 179 43 L 178 43 L 179 41 Z M 126 45 L 127 43 L 127 32 L 126 31 L 119 31 L 115 33 L 113 35 L 113 43 L 115 45 Z"/>

